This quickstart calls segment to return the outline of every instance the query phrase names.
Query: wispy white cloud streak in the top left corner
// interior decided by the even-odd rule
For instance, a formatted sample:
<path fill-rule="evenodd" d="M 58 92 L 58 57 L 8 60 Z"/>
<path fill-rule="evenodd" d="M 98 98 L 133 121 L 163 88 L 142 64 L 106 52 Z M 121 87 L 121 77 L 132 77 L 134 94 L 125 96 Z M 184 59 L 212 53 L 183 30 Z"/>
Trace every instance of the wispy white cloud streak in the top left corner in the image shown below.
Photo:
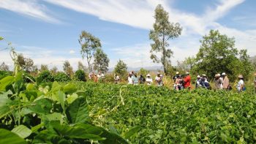
<path fill-rule="evenodd" d="M 0 8 L 44 20 L 48 23 L 60 23 L 60 20 L 51 16 L 47 7 L 39 4 L 36 0 L 2 0 L 0 1 Z"/>

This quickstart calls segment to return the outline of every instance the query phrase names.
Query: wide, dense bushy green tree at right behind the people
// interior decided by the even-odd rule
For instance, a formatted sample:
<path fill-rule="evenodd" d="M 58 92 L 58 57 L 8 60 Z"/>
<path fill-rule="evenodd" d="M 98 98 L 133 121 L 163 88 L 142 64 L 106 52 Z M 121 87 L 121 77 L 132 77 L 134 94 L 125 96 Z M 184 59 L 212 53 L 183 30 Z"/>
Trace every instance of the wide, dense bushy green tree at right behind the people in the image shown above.
<path fill-rule="evenodd" d="M 240 73 L 247 77 L 246 72 L 250 71 L 252 65 L 249 63 L 246 50 L 239 52 L 235 48 L 234 38 L 220 34 L 218 30 L 211 30 L 200 42 L 196 64 L 192 67 L 193 74 L 205 73 L 212 79 L 215 74 L 225 72 L 231 81 L 236 80 Z"/>

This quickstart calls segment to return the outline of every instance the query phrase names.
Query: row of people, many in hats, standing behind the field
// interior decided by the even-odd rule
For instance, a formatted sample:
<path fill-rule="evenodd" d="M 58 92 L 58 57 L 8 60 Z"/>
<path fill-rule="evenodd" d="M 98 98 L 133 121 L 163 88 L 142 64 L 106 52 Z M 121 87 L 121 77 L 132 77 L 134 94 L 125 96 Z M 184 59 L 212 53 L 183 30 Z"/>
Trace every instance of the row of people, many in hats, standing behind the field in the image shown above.
<path fill-rule="evenodd" d="M 115 75 L 115 83 L 119 83 L 120 78 L 118 75 Z M 191 77 L 189 72 L 186 72 L 185 75 L 180 75 L 179 72 L 176 72 L 176 75 L 173 77 L 173 88 L 177 91 L 182 89 L 190 89 L 191 88 Z M 146 75 L 146 78 L 143 75 L 138 76 L 138 74 L 134 71 L 129 72 L 127 77 L 127 83 L 131 85 L 138 85 L 146 83 L 148 86 L 152 84 L 156 84 L 156 86 L 164 86 L 163 75 L 160 72 L 157 72 L 157 76 L 154 78 L 151 77 L 150 74 Z M 225 89 L 231 90 L 230 81 L 225 74 L 225 72 L 220 74 L 216 74 L 214 77 L 215 87 L 217 89 Z M 256 73 L 255 73 L 255 92 L 256 92 Z M 208 77 L 205 74 L 197 75 L 197 80 L 195 81 L 195 88 L 207 88 L 211 89 L 211 85 L 208 82 Z M 244 77 L 243 75 L 238 75 L 238 84 L 236 86 L 238 91 L 245 91 L 244 85 Z"/>

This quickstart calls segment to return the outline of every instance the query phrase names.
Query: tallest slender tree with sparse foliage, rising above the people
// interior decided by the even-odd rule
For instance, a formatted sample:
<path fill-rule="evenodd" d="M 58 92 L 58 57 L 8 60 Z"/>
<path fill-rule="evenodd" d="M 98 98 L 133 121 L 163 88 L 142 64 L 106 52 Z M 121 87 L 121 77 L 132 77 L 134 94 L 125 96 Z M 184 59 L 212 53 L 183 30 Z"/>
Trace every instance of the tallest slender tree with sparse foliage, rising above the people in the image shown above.
<path fill-rule="evenodd" d="M 169 47 L 168 40 L 174 39 L 181 35 L 182 28 L 179 23 L 170 23 L 168 12 L 159 4 L 155 10 L 154 29 L 149 32 L 149 39 L 154 43 L 151 44 L 151 59 L 153 62 L 162 63 L 164 72 L 167 72 L 167 67 L 170 67 L 170 57 L 173 56 L 173 51 L 167 49 Z M 160 53 L 161 58 L 157 57 Z"/>

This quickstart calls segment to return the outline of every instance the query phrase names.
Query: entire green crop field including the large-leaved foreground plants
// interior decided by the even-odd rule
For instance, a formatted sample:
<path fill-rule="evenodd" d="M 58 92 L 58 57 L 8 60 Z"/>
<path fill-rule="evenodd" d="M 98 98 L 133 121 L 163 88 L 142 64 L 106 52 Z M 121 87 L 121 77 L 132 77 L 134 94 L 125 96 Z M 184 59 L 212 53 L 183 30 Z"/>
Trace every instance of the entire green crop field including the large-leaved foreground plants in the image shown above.
<path fill-rule="evenodd" d="M 249 91 L 0 80 L 0 143 L 255 143 Z"/>

